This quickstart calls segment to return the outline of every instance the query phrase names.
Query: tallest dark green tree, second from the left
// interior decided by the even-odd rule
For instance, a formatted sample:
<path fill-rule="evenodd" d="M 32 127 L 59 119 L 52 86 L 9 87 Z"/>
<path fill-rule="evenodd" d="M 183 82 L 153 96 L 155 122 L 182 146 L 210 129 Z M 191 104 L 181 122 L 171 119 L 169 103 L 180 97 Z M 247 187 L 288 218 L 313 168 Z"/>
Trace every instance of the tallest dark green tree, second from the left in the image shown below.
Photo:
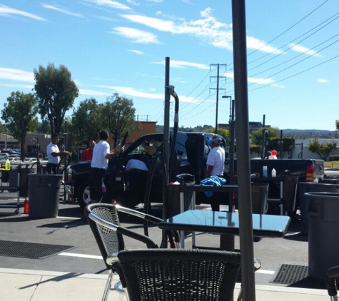
<path fill-rule="evenodd" d="M 64 65 L 59 68 L 55 68 L 53 63 L 49 63 L 47 68 L 39 66 L 39 70 L 34 69 L 34 78 L 41 119 L 49 121 L 51 134 L 59 134 L 65 113 L 79 96 L 79 89 Z"/>

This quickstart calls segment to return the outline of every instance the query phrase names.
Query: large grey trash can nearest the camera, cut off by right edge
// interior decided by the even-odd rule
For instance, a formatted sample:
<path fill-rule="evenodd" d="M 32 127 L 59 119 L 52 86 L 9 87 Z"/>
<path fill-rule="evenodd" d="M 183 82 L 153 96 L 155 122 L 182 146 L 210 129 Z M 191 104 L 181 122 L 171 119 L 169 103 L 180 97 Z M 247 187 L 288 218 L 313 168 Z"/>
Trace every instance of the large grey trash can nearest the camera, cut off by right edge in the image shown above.
<path fill-rule="evenodd" d="M 339 193 L 305 193 L 308 204 L 308 275 L 324 280 L 339 265 Z"/>

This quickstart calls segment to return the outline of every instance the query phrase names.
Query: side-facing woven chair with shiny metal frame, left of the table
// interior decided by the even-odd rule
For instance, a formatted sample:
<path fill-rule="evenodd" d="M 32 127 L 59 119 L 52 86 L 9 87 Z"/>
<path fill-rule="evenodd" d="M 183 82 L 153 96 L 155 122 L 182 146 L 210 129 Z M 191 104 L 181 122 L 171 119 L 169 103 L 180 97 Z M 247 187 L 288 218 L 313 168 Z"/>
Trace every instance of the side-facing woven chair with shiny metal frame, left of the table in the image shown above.
<path fill-rule="evenodd" d="M 139 240 L 142 243 L 145 243 L 147 248 L 158 248 L 158 245 L 145 235 L 140 235 L 121 227 L 118 218 L 118 210 L 115 205 L 103 203 L 90 204 L 86 206 L 85 214 L 108 270 L 108 279 L 102 297 L 102 300 L 106 301 L 108 292 L 111 289 L 113 272 L 118 273 L 121 284 L 123 287 L 126 287 L 120 264 L 116 257 L 119 251 L 125 249 L 123 236 L 126 235 L 130 238 Z"/>

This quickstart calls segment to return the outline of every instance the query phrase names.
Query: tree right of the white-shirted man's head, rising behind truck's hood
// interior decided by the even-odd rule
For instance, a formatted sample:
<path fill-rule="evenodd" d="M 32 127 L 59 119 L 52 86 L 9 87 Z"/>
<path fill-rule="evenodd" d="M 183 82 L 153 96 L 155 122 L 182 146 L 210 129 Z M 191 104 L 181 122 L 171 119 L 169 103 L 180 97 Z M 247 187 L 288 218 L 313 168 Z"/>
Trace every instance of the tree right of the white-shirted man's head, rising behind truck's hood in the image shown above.
<path fill-rule="evenodd" d="M 133 101 L 118 96 L 118 93 L 108 97 L 100 111 L 102 120 L 106 121 L 107 128 L 113 135 L 115 146 L 120 141 L 123 132 L 131 132 L 136 126 L 134 122 L 136 109 L 133 108 Z"/>

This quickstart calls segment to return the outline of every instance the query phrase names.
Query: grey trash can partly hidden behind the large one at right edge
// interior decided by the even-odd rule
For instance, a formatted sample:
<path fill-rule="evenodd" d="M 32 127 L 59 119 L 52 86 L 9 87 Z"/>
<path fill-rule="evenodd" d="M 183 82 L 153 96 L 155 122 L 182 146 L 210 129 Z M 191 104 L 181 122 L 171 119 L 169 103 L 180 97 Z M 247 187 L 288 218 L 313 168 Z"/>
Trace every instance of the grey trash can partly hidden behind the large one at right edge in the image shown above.
<path fill-rule="evenodd" d="M 300 200 L 300 233 L 308 235 L 308 203 L 309 197 L 305 193 L 339 193 L 339 184 L 299 182 Z"/>

